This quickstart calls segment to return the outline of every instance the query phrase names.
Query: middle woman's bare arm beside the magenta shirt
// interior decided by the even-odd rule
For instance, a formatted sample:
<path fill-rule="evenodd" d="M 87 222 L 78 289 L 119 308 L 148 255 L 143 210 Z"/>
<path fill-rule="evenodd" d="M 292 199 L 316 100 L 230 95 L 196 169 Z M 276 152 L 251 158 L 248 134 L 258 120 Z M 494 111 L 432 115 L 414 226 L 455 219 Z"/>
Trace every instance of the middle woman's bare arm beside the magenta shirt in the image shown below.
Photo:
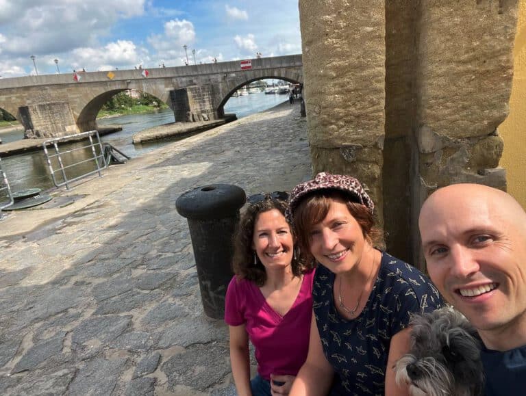
<path fill-rule="evenodd" d="M 314 313 L 310 324 L 309 353 L 307 360 L 301 366 L 292 389 L 290 396 L 323 396 L 329 393 L 331 388 L 334 371 L 325 355 L 321 346 L 320 333 L 316 326 Z"/>

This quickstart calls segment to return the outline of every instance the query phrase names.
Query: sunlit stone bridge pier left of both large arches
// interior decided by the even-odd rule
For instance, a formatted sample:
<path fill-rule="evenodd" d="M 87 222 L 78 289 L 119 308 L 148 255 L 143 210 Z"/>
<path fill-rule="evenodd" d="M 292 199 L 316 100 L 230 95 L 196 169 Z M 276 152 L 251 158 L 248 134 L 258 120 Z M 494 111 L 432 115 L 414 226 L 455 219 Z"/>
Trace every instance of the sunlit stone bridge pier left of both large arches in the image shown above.
<path fill-rule="evenodd" d="M 67 102 L 34 103 L 18 109 L 26 138 L 62 137 L 79 133 Z"/>

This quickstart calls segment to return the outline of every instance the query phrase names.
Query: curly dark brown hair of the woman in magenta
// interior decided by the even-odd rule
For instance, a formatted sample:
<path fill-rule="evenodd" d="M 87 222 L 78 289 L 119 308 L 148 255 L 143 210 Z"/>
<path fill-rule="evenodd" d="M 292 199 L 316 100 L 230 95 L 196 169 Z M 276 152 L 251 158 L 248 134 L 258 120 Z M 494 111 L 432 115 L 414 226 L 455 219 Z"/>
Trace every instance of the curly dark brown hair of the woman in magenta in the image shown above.
<path fill-rule="evenodd" d="M 286 209 L 288 204 L 281 200 L 276 199 L 264 199 L 261 202 L 255 204 L 248 204 L 247 209 L 242 213 L 241 218 L 236 227 L 234 233 L 234 257 L 232 259 L 232 269 L 238 279 L 247 279 L 255 282 L 258 286 L 263 286 L 266 281 L 265 267 L 258 259 L 257 264 L 254 265 L 254 255 L 256 254 L 252 248 L 254 226 L 258 220 L 260 213 L 268 212 L 273 209 L 277 209 L 285 217 Z M 287 222 L 290 233 L 294 238 L 294 231 Z M 301 254 L 297 254 L 297 257 L 292 255 L 292 274 L 294 276 L 301 276 L 305 272 L 311 269 L 310 265 L 305 265 Z"/>

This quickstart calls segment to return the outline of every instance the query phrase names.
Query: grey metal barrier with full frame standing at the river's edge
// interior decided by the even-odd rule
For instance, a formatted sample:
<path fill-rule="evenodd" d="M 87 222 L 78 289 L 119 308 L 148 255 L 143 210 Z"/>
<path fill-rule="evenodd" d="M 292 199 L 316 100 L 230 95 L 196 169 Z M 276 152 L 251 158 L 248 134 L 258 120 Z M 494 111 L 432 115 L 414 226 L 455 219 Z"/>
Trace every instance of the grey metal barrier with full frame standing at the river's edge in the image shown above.
<path fill-rule="evenodd" d="M 88 144 L 85 146 L 79 146 L 71 148 L 70 150 L 62 150 L 60 151 L 59 143 L 68 142 L 71 143 L 71 140 L 88 140 Z M 84 142 L 84 140 L 83 140 Z M 50 154 L 47 147 L 53 146 L 55 149 L 55 153 Z M 77 133 L 76 135 L 68 135 L 63 137 L 55 137 L 55 139 L 46 140 L 45 142 L 42 142 L 42 147 L 44 148 L 44 153 L 46 155 L 46 161 L 47 165 L 49 166 L 49 172 L 51 172 L 51 179 L 53 179 L 53 184 L 55 187 L 62 187 L 63 185 L 66 186 L 66 189 L 69 189 L 69 185 L 77 181 L 79 179 L 83 179 L 86 176 L 90 176 L 90 174 L 98 173 L 99 177 L 102 177 L 101 171 L 104 168 L 108 168 L 108 161 L 106 161 L 105 155 L 104 155 L 104 149 L 102 146 L 101 138 L 99 137 L 99 131 L 88 131 L 88 132 L 82 132 Z M 71 163 L 64 164 L 63 157 L 65 154 L 74 153 L 78 150 L 85 150 L 88 149 L 88 157 L 84 157 L 86 159 L 82 159 L 80 161 L 71 161 Z M 73 157 L 73 155 L 71 155 Z M 56 169 L 53 169 L 53 161 L 56 159 L 58 167 Z M 86 170 L 86 172 L 78 174 L 77 176 L 68 178 L 68 170 L 71 170 L 72 168 L 78 167 L 84 163 L 90 163 L 92 162 L 95 165 L 95 169 L 93 170 Z M 60 176 L 62 176 L 62 181 L 58 181 L 56 177 L 56 173 L 60 173 Z"/>

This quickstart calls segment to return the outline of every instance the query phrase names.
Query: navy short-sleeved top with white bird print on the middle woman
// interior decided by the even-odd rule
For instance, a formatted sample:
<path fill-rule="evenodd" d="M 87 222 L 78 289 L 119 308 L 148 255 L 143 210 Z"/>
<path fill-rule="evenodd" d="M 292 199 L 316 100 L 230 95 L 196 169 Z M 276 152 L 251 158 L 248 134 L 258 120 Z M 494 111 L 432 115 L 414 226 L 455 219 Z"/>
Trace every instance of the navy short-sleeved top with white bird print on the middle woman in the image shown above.
<path fill-rule="evenodd" d="M 325 357 L 335 371 L 331 395 L 384 395 L 390 339 L 410 313 L 434 311 L 443 301 L 418 269 L 383 253 L 367 304 L 354 320 L 336 311 L 334 274 L 318 265 L 312 295 Z"/>

